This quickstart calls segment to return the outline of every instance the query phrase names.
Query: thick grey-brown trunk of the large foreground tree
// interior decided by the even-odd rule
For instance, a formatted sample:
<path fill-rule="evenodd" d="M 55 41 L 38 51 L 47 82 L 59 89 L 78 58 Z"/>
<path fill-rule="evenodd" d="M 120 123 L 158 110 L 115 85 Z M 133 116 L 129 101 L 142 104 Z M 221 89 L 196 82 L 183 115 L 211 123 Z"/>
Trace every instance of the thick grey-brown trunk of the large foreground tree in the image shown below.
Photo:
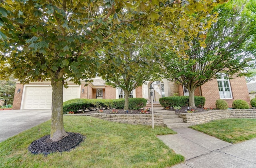
<path fill-rule="evenodd" d="M 60 141 L 68 136 L 64 130 L 63 123 L 63 81 L 51 80 L 52 84 L 52 125 L 51 137 L 52 141 Z"/>

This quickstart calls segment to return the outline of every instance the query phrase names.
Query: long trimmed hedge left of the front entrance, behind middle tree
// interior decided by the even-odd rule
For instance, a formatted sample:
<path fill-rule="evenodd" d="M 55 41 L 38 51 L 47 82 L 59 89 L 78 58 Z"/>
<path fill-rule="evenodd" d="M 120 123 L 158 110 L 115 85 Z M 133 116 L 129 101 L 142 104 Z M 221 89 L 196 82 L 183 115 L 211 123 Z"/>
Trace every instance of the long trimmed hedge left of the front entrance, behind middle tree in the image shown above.
<path fill-rule="evenodd" d="M 146 106 L 144 98 L 129 98 L 129 109 L 140 109 Z M 86 109 L 124 109 L 124 99 L 72 99 L 63 103 L 63 113 L 70 111 L 85 112 Z"/>

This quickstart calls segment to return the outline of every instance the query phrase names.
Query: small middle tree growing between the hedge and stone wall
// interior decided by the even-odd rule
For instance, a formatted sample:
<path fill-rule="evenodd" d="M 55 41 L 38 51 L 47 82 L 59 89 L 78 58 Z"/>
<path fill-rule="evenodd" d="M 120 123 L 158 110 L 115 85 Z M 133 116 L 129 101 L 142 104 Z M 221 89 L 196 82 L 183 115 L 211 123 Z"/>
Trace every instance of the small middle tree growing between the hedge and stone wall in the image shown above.
<path fill-rule="evenodd" d="M 146 38 L 148 33 L 142 34 L 140 37 L 137 30 L 134 33 L 125 31 L 120 35 L 119 44 L 103 51 L 104 61 L 100 76 L 106 80 L 106 84 L 124 91 L 125 111 L 129 109 L 130 92 L 150 80 L 156 72 L 156 55 L 148 41 L 146 43 L 146 39 L 149 39 Z"/>

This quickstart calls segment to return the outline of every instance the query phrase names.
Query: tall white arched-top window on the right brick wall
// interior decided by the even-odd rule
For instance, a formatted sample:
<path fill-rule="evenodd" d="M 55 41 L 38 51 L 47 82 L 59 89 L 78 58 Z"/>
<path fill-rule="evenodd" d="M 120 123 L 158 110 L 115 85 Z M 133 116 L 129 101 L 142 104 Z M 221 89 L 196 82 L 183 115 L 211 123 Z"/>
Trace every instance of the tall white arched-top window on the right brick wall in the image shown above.
<path fill-rule="evenodd" d="M 230 83 L 226 74 L 220 74 L 217 78 L 221 99 L 232 99 Z"/>

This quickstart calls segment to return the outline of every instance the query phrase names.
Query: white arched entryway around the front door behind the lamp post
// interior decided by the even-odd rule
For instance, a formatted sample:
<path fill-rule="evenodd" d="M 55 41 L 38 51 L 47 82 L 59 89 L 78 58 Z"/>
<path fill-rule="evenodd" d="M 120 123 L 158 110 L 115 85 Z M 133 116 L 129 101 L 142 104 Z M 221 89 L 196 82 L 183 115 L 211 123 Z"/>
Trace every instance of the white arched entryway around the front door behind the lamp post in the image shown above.
<path fill-rule="evenodd" d="M 159 102 L 160 98 L 165 97 L 164 82 L 162 80 L 156 80 L 154 82 L 151 82 L 151 84 L 149 85 L 148 88 L 150 88 L 150 86 L 152 86 L 154 88 L 153 102 Z M 149 93 L 150 93 L 150 91 L 149 91 Z M 150 94 L 149 94 L 149 96 L 150 96 Z"/>

